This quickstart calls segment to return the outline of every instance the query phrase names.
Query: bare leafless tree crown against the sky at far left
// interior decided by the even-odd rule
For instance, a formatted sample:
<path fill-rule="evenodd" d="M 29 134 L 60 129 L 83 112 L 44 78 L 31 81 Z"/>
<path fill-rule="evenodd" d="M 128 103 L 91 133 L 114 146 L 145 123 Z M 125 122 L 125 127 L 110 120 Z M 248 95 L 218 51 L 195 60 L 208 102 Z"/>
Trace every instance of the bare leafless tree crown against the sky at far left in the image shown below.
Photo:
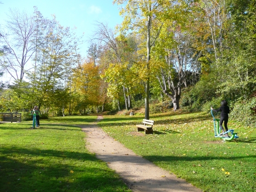
<path fill-rule="evenodd" d="M 9 49 L 1 58 L 1 66 L 8 71 L 15 81 L 22 81 L 28 68 L 26 64 L 35 53 L 36 45 L 32 42 L 35 33 L 35 22 L 31 15 L 18 10 L 9 10 L 9 19 L 2 31 L 1 43 Z M 4 35 L 5 34 L 5 35 Z"/>

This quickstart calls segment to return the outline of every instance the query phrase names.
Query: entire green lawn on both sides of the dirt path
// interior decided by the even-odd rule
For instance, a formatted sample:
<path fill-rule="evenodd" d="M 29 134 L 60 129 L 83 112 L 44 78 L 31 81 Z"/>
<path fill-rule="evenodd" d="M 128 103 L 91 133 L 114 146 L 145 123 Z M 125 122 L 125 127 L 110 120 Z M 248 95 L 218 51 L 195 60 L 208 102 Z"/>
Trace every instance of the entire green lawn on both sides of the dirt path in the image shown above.
<path fill-rule="evenodd" d="M 203 191 L 255 191 L 256 130 L 229 122 L 237 140 L 214 137 L 210 114 L 151 115 L 154 134 L 139 135 L 143 116 L 104 116 L 99 126 L 137 155 Z M 66 116 L 0 125 L 0 191 L 129 191 L 120 177 L 85 148 L 75 125 L 96 116 Z"/>

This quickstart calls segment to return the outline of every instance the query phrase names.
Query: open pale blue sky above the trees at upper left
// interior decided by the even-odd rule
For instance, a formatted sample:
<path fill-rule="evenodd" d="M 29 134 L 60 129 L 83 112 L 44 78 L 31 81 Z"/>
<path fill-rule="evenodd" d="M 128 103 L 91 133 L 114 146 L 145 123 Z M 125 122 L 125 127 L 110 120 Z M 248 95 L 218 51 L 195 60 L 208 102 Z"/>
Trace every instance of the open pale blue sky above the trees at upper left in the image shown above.
<path fill-rule="evenodd" d="M 123 18 L 119 15 L 119 9 L 112 0 L 0 0 L 0 24 L 4 24 L 9 8 L 16 8 L 27 13 L 34 12 L 37 7 L 44 18 L 51 18 L 55 14 L 60 25 L 65 27 L 76 27 L 77 36 L 84 33 L 86 41 L 92 36 L 96 29 L 96 21 L 108 24 L 114 29 L 117 24 L 121 24 Z M 90 44 L 84 43 L 81 46 L 81 55 L 86 57 L 86 50 Z"/>

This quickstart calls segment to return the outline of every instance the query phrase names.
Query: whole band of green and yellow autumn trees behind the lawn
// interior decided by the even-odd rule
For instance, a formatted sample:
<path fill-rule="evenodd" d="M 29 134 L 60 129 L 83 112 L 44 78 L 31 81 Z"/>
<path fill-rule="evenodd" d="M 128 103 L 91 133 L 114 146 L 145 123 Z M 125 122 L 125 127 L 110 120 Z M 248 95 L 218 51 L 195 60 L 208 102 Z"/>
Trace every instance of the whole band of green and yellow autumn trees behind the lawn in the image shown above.
<path fill-rule="evenodd" d="M 86 114 L 133 110 L 144 100 L 149 119 L 149 106 L 162 101 L 207 111 L 226 99 L 236 114 L 244 103 L 253 114 L 255 0 L 113 3 L 123 5 L 124 20 L 116 30 L 96 22 L 86 58 L 80 38 L 54 17 L 10 10 L 0 61 L 14 83 L 2 86 L 1 110 L 37 104 L 48 114 Z"/>

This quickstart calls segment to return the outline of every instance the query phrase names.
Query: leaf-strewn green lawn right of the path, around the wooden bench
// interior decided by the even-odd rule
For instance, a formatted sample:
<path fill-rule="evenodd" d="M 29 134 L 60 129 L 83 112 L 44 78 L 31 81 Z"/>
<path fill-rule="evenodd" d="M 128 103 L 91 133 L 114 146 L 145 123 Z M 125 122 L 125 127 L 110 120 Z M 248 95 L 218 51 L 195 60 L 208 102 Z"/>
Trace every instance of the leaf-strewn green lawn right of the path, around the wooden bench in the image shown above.
<path fill-rule="evenodd" d="M 256 130 L 230 121 L 240 138 L 214 137 L 210 114 L 171 112 L 151 115 L 154 134 L 138 135 L 143 116 L 104 116 L 99 122 L 111 137 L 137 155 L 175 173 L 203 191 L 256 190 Z"/>

